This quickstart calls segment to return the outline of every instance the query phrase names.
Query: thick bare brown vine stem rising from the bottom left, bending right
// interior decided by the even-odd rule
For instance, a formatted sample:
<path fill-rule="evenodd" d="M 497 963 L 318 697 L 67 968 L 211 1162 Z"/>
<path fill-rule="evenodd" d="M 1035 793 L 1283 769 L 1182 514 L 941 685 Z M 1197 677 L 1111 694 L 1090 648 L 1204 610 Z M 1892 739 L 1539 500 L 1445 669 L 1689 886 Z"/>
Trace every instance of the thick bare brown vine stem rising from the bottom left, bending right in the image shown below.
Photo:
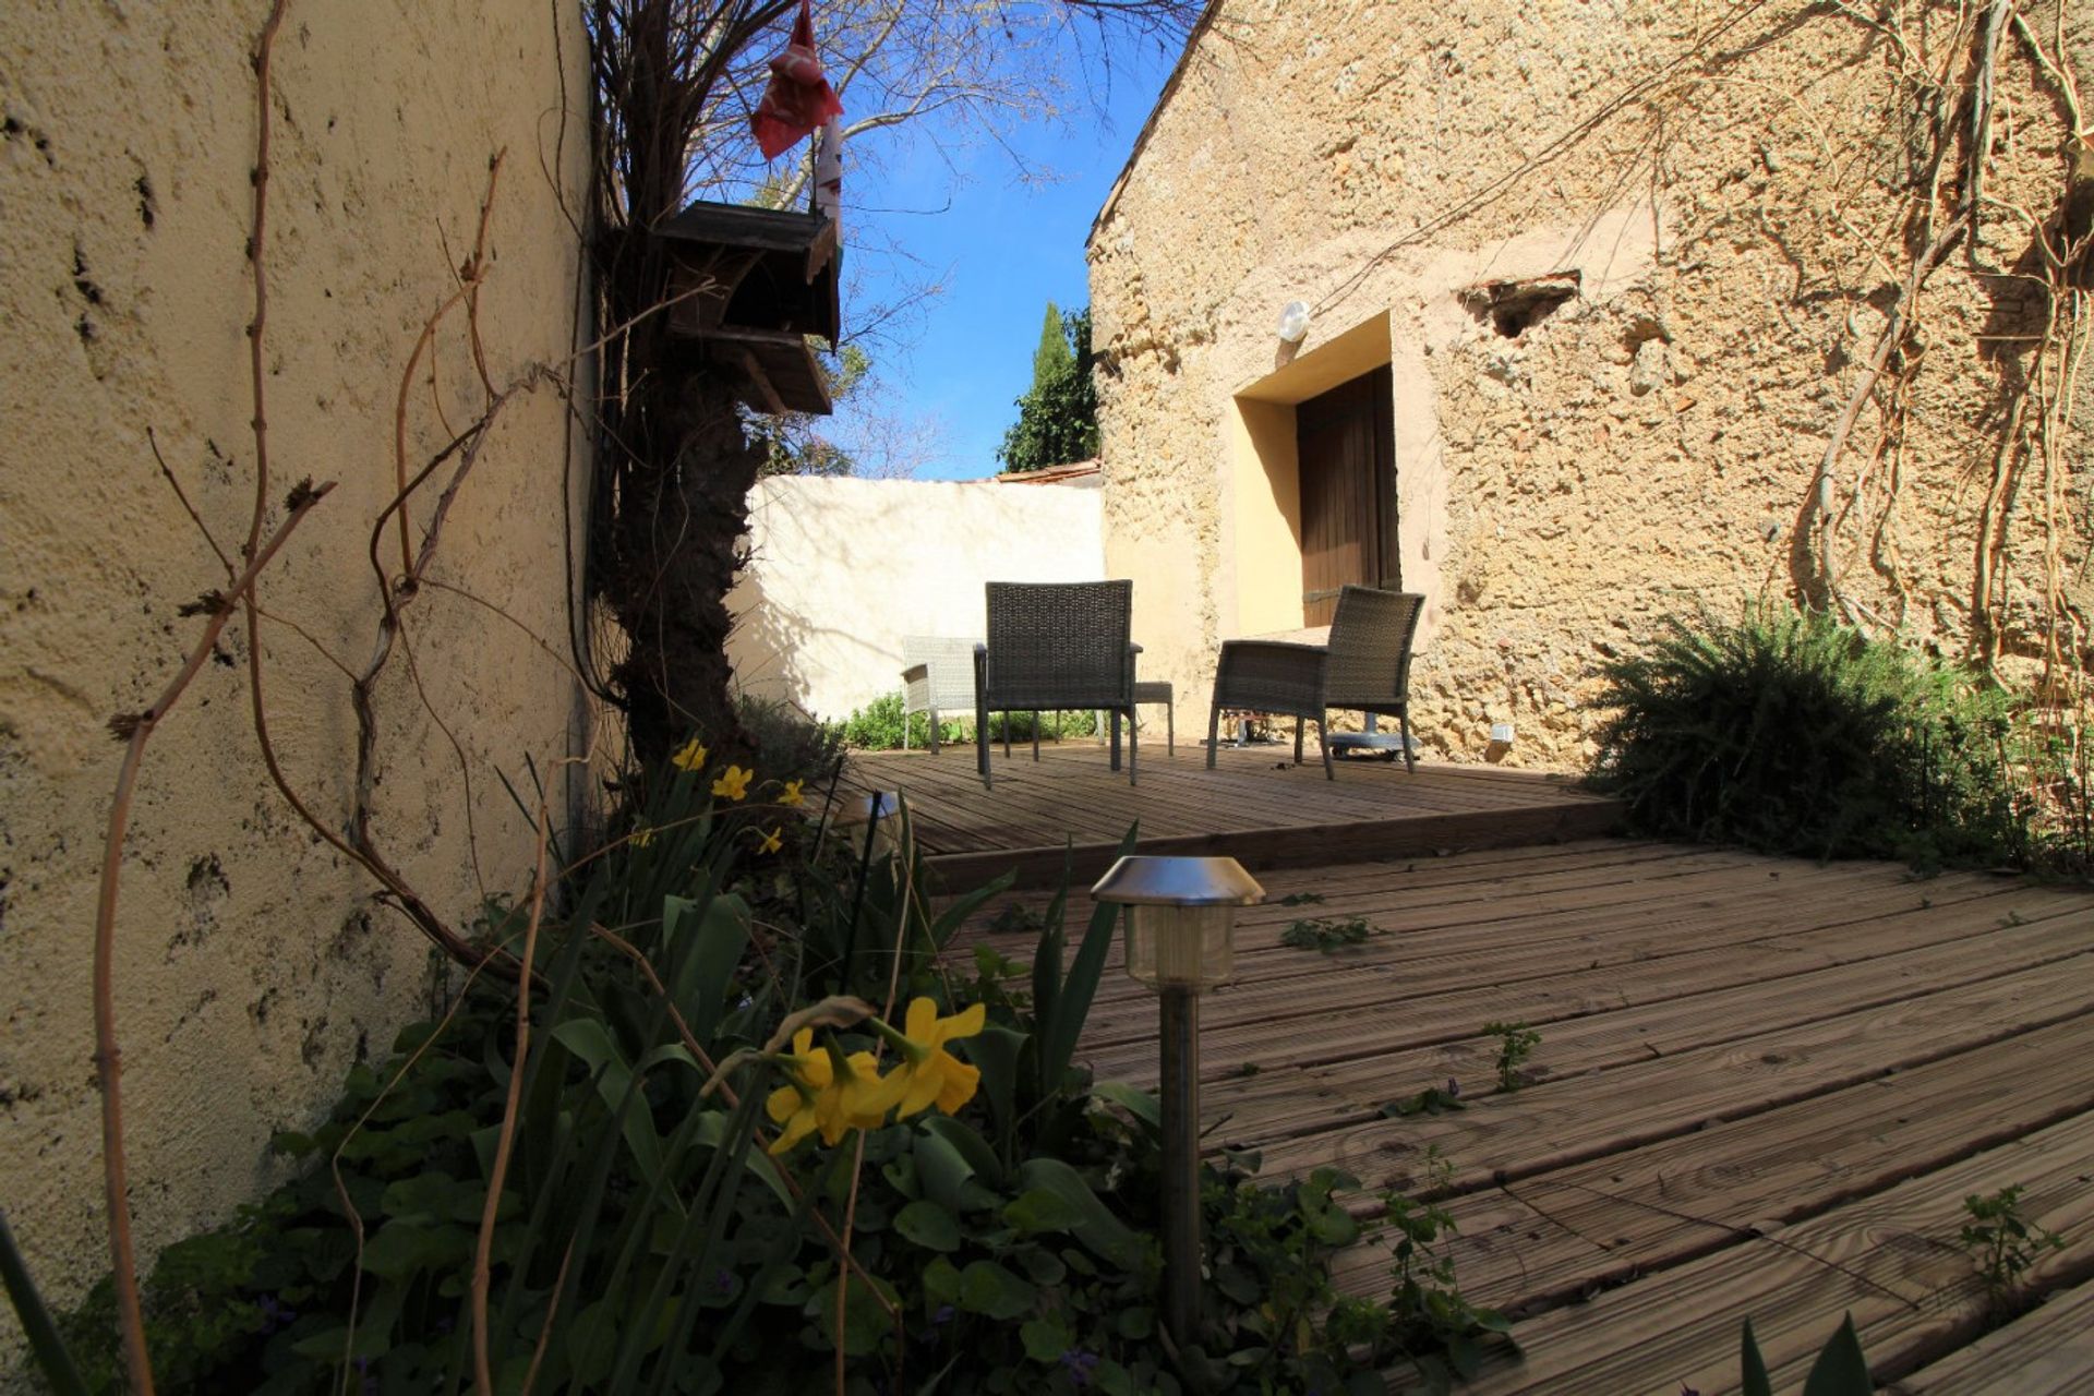
<path fill-rule="evenodd" d="M 130 1195 L 124 1183 L 124 1065 L 117 1049 L 115 1011 L 115 929 L 117 929 L 117 883 L 124 877 L 124 831 L 130 825 L 132 791 L 138 783 L 138 764 L 144 760 L 144 743 L 153 728 L 180 701 L 197 670 L 211 657 L 220 632 L 232 620 L 232 607 L 245 596 L 255 578 L 268 567 L 285 538 L 291 536 L 312 506 L 327 498 L 333 483 L 299 483 L 291 490 L 289 517 L 276 525 L 268 542 L 255 550 L 247 569 L 235 578 L 228 592 L 209 592 L 203 605 L 209 620 L 203 634 L 188 651 L 180 672 L 161 691 L 153 705 L 138 714 L 124 714 L 109 722 L 109 728 L 126 739 L 124 764 L 117 768 L 115 797 L 109 802 L 109 833 L 103 841 L 103 879 L 94 902 L 94 1072 L 103 1090 L 103 1189 L 109 1208 L 109 1262 L 117 1291 L 117 1323 L 124 1329 L 124 1363 L 130 1371 L 134 1392 L 153 1390 L 153 1365 L 144 1346 L 144 1310 L 138 1304 L 138 1260 L 132 1252 Z"/>

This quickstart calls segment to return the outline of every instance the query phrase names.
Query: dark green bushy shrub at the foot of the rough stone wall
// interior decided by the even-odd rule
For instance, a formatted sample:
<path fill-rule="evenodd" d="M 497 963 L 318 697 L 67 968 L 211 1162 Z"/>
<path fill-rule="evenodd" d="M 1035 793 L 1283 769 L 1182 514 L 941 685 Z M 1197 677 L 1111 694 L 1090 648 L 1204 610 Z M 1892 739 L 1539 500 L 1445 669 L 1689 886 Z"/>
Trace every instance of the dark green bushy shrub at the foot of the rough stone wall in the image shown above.
<path fill-rule="evenodd" d="M 1614 712 L 1591 781 L 1633 827 L 1815 858 L 2027 856 L 1998 689 L 1818 613 L 1667 624 L 1598 699 Z"/>

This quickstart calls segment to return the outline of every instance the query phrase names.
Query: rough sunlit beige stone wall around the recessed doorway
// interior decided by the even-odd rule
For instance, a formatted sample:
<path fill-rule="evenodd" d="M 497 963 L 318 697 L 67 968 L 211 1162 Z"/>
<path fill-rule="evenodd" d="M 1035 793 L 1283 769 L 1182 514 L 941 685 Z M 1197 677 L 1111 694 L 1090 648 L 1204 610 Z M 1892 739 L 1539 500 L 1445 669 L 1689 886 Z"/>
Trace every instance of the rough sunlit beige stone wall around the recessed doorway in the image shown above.
<path fill-rule="evenodd" d="M 1480 760 L 1489 724 L 1514 722 L 1503 760 L 1579 766 L 1600 661 L 1665 613 L 1790 586 L 1897 274 L 1895 63 L 1880 33 L 1790 0 L 1721 36 L 1694 82 L 1677 75 L 1707 67 L 1688 54 L 1715 13 L 1342 8 L 1223 4 L 1093 230 L 1106 565 L 1135 578 L 1141 632 L 1177 636 L 1148 670 L 1204 701 L 1221 638 L 1300 624 L 1288 404 L 1388 362 L 1403 578 L 1428 596 L 1422 737 Z M 1954 13 L 1901 8 L 1914 27 Z M 2048 36 L 2056 6 L 2029 10 Z M 2088 71 L 2094 10 L 2071 23 Z M 1989 188 L 2054 207 L 2060 105 L 2014 42 L 2000 86 L 2017 119 Z M 1968 634 L 1970 475 L 2000 383 L 1977 335 L 2000 331 L 1996 272 L 2025 251 L 2000 216 L 1929 283 L 1891 559 L 1841 544 L 1859 603 L 1947 649 Z M 1518 339 L 1455 295 L 1562 270 L 1581 295 Z M 1313 308 L 1298 350 L 1275 335 L 1292 299 Z M 1864 440 L 1841 496 L 1880 498 L 1866 458 Z M 2084 502 L 2073 517 L 2067 567 Z"/>

